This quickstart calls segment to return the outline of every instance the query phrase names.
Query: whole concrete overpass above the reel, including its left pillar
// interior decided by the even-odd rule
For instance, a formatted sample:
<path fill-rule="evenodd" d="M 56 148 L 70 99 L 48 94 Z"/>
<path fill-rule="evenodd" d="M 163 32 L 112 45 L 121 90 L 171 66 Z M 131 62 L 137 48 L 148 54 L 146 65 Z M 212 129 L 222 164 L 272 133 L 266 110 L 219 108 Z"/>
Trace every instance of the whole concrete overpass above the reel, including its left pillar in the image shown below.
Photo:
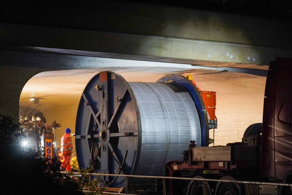
<path fill-rule="evenodd" d="M 23 86 L 39 72 L 116 66 L 110 58 L 240 67 L 292 57 L 288 21 L 117 1 L 0 11 L 3 115 L 17 115 Z"/>

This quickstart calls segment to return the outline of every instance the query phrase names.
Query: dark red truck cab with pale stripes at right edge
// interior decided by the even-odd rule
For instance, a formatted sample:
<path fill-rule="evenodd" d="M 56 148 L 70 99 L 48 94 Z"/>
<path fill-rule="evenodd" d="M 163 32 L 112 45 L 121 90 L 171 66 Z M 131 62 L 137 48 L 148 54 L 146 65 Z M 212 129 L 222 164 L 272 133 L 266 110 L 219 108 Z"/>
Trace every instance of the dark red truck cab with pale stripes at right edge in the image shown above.
<path fill-rule="evenodd" d="M 292 182 L 292 59 L 276 58 L 267 75 L 262 128 L 261 173 Z"/>

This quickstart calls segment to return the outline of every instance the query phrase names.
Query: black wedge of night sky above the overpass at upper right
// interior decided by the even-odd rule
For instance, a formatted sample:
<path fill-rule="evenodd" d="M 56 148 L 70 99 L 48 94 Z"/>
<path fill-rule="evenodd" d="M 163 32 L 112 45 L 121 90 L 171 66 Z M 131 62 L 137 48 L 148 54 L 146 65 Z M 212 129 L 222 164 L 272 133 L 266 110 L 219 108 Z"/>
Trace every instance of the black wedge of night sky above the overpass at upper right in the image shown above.
<path fill-rule="evenodd" d="M 292 0 L 127 0 L 241 15 L 292 19 Z"/>

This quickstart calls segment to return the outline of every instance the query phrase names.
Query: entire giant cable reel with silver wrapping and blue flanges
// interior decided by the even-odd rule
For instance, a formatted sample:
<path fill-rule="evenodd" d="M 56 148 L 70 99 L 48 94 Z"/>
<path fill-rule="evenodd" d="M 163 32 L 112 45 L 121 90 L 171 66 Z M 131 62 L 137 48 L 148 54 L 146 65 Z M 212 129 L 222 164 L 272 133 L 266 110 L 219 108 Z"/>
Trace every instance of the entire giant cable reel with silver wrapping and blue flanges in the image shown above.
<path fill-rule="evenodd" d="M 170 78 L 148 83 L 126 82 L 114 72 L 95 75 L 77 112 L 79 166 L 93 166 L 96 173 L 163 176 L 165 163 L 182 160 L 190 140 L 206 144 L 208 125 L 201 96 L 184 77 Z M 111 187 L 124 185 L 121 177 L 101 179 Z"/>

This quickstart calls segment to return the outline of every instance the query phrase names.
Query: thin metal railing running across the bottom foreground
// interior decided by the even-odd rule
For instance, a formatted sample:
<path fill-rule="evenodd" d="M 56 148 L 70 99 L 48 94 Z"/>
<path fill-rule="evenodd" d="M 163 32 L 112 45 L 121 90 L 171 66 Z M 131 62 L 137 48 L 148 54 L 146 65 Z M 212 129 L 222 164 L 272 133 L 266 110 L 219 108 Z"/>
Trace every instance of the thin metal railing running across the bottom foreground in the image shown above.
<path fill-rule="evenodd" d="M 68 173 L 65 171 L 60 171 L 60 173 Z M 72 172 L 73 175 L 80 175 L 78 172 Z M 204 186 L 204 181 L 206 182 L 226 182 L 226 183 L 237 183 L 237 184 L 245 184 L 245 189 L 247 189 L 246 184 L 256 184 L 256 185 L 267 185 L 267 186 L 286 186 L 290 187 L 292 191 L 292 184 L 285 183 L 272 183 L 272 182 L 251 182 L 251 181 L 238 181 L 238 180 L 218 180 L 218 179 L 205 179 L 205 178 L 189 178 L 189 177 L 166 177 L 166 176 L 145 176 L 145 175 L 117 175 L 117 174 L 102 174 L 102 173 L 86 173 L 86 175 L 99 175 L 99 176 L 113 176 L 113 177 L 126 177 L 126 187 L 125 191 L 127 195 L 136 195 L 136 194 L 128 194 L 128 178 L 129 177 L 138 177 L 138 178 L 152 178 L 152 179 L 162 179 L 163 181 L 163 194 L 166 195 L 166 184 L 165 180 L 189 180 L 189 181 L 201 181 Z M 90 179 L 91 177 L 89 177 Z M 87 190 L 83 190 L 84 192 L 88 192 Z M 205 190 L 203 190 L 204 195 L 206 194 Z M 117 192 L 101 192 L 105 194 L 123 194 Z"/>

